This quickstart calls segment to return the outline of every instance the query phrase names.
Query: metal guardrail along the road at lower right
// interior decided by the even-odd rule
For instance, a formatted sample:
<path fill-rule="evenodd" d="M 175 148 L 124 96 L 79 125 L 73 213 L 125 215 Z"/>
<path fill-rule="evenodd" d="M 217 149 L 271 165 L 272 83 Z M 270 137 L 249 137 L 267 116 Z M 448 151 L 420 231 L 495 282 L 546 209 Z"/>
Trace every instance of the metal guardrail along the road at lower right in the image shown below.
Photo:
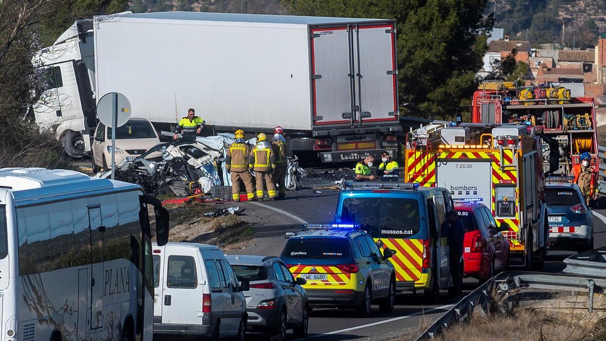
<path fill-rule="evenodd" d="M 514 288 L 588 292 L 589 311 L 593 311 L 593 294 L 606 292 L 606 246 L 572 255 L 564 263 L 563 274 L 518 271 L 494 276 L 445 312 L 417 340 L 433 339 L 448 326 L 471 317 L 476 307 L 488 312 L 496 303 L 493 295 L 501 295 L 501 305 L 515 305 L 517 293 L 511 291 Z"/>

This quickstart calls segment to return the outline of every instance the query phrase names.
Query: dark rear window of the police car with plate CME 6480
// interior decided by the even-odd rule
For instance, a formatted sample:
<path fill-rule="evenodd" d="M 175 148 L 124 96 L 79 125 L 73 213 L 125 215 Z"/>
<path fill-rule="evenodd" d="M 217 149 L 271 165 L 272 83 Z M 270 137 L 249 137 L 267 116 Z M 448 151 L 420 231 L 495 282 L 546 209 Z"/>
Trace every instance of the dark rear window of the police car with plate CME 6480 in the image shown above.
<path fill-rule="evenodd" d="M 344 238 L 295 238 L 290 239 L 282 251 L 283 260 L 344 260 L 350 257 L 349 241 Z M 286 263 L 289 263 L 285 261 Z"/>

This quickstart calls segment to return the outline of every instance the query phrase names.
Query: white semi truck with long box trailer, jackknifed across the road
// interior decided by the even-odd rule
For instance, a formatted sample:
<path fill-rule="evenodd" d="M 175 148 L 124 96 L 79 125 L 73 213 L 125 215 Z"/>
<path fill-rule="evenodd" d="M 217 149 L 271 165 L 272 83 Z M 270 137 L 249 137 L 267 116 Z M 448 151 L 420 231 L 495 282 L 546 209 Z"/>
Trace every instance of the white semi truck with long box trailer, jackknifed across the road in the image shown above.
<path fill-rule="evenodd" d="M 72 156 L 90 151 L 102 95 L 171 130 L 196 109 L 215 131 L 270 132 L 324 162 L 397 152 L 395 21 L 227 13 L 118 13 L 76 21 L 35 62 L 33 106 Z"/>

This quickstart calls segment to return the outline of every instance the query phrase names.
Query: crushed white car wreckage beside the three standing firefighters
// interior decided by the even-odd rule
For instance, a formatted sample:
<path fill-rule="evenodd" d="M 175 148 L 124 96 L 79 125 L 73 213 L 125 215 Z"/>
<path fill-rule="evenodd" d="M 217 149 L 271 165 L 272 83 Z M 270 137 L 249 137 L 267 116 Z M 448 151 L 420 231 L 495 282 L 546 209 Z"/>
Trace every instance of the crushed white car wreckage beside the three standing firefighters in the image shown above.
<path fill-rule="evenodd" d="M 212 137 L 183 137 L 156 144 L 138 157 L 116 166 L 116 180 L 139 184 L 146 194 L 174 194 L 179 197 L 207 194 L 213 186 L 231 186 L 225 164 L 225 151 L 234 141 L 233 134 Z M 255 140 L 248 141 L 254 144 Z M 105 172 L 99 177 L 107 178 Z M 288 164 L 286 184 L 289 190 L 298 187 L 298 178 L 305 177 L 296 158 Z"/>

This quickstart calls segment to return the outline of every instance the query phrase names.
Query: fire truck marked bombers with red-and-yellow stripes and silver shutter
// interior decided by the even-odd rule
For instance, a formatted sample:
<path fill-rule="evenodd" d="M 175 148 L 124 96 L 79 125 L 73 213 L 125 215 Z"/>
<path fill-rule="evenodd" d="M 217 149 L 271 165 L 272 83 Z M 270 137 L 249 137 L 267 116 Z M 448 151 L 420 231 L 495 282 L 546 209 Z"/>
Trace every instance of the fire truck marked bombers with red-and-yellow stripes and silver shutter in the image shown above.
<path fill-rule="evenodd" d="M 509 241 L 509 265 L 540 268 L 548 236 L 541 133 L 516 124 L 428 124 L 407 134 L 405 181 L 485 204 Z"/>

